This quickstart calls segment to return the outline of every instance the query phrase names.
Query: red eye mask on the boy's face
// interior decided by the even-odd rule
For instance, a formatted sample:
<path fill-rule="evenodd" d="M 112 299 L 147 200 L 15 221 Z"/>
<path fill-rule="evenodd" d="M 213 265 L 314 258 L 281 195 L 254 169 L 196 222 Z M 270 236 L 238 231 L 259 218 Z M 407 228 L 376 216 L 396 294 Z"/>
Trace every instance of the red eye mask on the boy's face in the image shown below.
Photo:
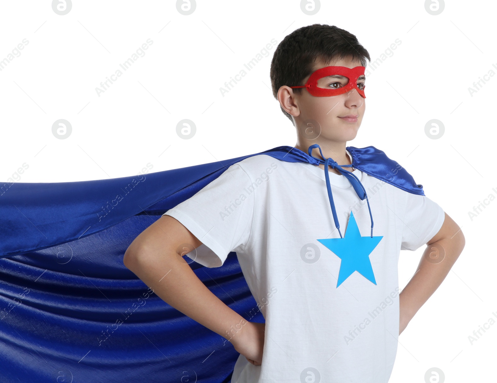
<path fill-rule="evenodd" d="M 290 86 L 291 88 L 307 88 L 309 93 L 316 97 L 329 97 L 336 96 L 338 94 L 342 94 L 348 92 L 349 90 L 356 89 L 357 92 L 363 97 L 366 98 L 364 94 L 364 86 L 362 89 L 357 85 L 357 78 L 359 76 L 364 75 L 365 67 L 355 67 L 355 68 L 347 68 L 347 67 L 325 67 L 318 69 L 313 72 L 311 77 L 307 80 L 305 85 L 301 86 Z M 342 77 L 329 77 L 327 76 L 342 76 Z M 341 87 L 339 88 L 331 88 L 330 84 L 339 83 Z M 361 84 L 361 83 L 360 83 Z"/>

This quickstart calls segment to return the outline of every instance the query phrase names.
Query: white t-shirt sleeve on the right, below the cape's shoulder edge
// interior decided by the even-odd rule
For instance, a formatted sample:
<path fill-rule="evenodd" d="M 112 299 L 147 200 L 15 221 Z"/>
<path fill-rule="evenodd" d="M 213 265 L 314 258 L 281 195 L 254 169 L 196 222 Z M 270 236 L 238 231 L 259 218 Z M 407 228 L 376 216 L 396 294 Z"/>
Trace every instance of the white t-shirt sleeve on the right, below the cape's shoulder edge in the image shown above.
<path fill-rule="evenodd" d="M 426 196 L 409 192 L 406 194 L 401 250 L 414 251 L 440 230 L 445 220 L 445 212 Z"/>

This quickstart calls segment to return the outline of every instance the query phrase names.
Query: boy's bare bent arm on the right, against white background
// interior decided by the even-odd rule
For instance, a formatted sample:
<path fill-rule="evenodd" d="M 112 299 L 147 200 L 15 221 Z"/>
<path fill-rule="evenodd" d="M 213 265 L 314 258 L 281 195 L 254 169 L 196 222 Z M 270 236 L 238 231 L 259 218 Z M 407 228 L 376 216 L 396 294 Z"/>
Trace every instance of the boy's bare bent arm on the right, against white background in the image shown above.
<path fill-rule="evenodd" d="M 465 245 L 459 226 L 445 213 L 442 227 L 426 244 L 416 272 L 399 295 L 400 329 L 404 331 L 419 308 L 445 279 Z"/>

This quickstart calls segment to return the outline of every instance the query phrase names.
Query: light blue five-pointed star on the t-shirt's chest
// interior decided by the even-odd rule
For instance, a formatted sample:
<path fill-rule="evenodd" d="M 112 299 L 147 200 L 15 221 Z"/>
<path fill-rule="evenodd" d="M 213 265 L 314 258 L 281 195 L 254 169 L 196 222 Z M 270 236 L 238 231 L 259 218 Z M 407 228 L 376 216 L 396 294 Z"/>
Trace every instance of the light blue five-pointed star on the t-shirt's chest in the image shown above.
<path fill-rule="evenodd" d="M 361 236 L 354 215 L 350 211 L 347 229 L 343 238 L 318 239 L 341 259 L 336 287 L 340 286 L 354 271 L 357 271 L 376 285 L 369 254 L 380 243 L 381 238 L 383 238 L 383 235 L 374 237 L 370 235 Z"/>

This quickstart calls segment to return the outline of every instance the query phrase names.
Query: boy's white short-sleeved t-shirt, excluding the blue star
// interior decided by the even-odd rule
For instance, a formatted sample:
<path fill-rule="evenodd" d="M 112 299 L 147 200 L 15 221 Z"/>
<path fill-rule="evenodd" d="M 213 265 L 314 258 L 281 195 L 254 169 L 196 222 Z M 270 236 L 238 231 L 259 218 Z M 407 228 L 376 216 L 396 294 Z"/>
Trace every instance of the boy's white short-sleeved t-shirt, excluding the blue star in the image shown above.
<path fill-rule="evenodd" d="M 390 378 L 399 336 L 400 250 L 431 239 L 444 211 L 426 196 L 355 169 L 368 195 L 373 236 L 383 235 L 369 255 L 376 285 L 354 271 L 337 287 L 340 258 L 318 241 L 340 238 L 324 173 L 307 162 L 253 155 L 165 213 L 203 243 L 188 254 L 196 262 L 219 267 L 236 251 L 265 318 L 261 366 L 240 355 L 232 383 Z M 360 235 L 370 236 L 366 199 L 343 175 L 330 172 L 330 183 L 342 236 L 350 211 Z"/>

